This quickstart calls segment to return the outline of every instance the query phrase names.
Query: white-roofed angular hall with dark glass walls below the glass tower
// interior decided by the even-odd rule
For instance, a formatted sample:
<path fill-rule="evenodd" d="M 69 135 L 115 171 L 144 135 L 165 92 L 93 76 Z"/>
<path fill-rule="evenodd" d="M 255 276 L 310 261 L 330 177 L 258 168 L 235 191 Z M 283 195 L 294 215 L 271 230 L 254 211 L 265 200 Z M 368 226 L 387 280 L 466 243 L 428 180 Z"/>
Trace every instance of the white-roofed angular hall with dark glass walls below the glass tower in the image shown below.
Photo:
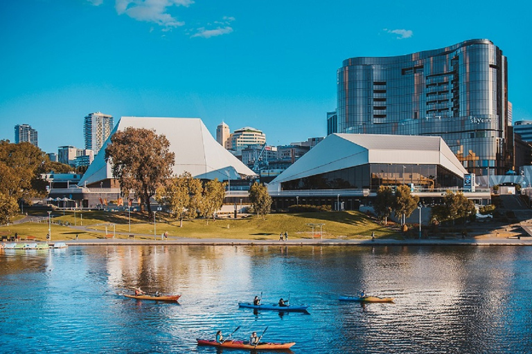
<path fill-rule="evenodd" d="M 447 190 L 485 203 L 489 190 L 475 190 L 474 182 L 464 188 L 466 176 L 471 175 L 437 136 L 334 133 L 267 187 L 274 209 L 296 204 L 358 209 L 380 185 L 409 185 L 428 204 Z"/>

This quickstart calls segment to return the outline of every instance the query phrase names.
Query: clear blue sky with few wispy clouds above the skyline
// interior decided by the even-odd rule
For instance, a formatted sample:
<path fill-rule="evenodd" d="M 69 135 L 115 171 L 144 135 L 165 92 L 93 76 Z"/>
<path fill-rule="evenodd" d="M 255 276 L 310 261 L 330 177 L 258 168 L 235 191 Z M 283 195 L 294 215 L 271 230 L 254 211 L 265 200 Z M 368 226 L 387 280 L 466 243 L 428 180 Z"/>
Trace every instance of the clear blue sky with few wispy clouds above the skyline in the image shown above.
<path fill-rule="evenodd" d="M 528 1 L 6 0 L 0 139 L 83 148 L 83 117 L 202 118 L 270 145 L 326 134 L 342 60 L 487 38 L 508 57 L 513 119 L 532 120 Z"/>

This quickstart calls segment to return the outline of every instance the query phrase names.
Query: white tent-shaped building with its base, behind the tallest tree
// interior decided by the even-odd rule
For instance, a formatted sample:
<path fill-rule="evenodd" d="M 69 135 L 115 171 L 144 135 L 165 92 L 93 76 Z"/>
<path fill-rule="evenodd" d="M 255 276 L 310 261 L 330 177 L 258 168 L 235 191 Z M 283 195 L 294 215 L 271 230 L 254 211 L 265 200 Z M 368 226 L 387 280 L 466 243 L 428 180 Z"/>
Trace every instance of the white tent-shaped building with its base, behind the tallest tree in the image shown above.
<path fill-rule="evenodd" d="M 105 161 L 105 148 L 116 131 L 127 127 L 153 129 L 163 134 L 170 142 L 170 151 L 175 153 L 172 172 L 176 176 L 189 172 L 194 178 L 220 181 L 231 180 L 231 187 L 238 189 L 238 182 L 249 187 L 248 178 L 256 176 L 242 161 L 211 136 L 199 118 L 152 118 L 122 117 L 94 158 L 78 186 L 51 189 L 49 196 L 70 198 L 82 207 L 94 207 L 100 198 L 116 199 L 121 194 L 118 180 L 112 175 L 110 162 Z"/>

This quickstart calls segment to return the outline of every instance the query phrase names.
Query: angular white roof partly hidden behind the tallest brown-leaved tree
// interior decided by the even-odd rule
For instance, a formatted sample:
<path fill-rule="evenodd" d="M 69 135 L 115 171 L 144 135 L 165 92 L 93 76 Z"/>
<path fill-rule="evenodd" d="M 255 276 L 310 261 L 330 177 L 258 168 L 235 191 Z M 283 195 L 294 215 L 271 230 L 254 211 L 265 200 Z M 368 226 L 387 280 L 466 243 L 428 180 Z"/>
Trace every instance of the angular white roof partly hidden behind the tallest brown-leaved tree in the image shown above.
<path fill-rule="evenodd" d="M 195 178 L 209 180 L 227 180 L 228 174 L 231 179 L 256 175 L 218 144 L 199 118 L 122 117 L 78 185 L 113 178 L 111 166 L 105 162 L 105 148 L 116 131 L 127 127 L 154 129 L 155 133 L 164 134 L 170 142 L 170 151 L 175 153 L 176 175 L 187 171 Z"/>

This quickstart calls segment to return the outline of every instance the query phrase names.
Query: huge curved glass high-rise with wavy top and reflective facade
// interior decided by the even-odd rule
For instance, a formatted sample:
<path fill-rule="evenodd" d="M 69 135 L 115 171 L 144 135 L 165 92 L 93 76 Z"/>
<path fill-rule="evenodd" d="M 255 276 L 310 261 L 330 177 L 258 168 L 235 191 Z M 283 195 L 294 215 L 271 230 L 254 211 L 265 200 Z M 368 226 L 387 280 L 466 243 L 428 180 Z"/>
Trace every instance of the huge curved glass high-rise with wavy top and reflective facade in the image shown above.
<path fill-rule="evenodd" d="M 441 136 L 470 173 L 504 174 L 513 167 L 507 72 L 488 39 L 346 59 L 337 71 L 336 131 Z"/>

